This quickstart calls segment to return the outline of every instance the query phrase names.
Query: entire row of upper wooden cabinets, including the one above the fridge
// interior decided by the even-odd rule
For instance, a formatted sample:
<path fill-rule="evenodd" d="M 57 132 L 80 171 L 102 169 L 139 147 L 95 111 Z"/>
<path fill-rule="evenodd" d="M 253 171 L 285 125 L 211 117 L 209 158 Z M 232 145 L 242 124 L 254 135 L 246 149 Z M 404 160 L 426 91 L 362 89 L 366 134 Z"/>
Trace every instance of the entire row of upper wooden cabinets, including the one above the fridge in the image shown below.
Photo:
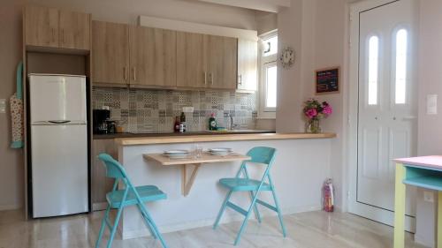
<path fill-rule="evenodd" d="M 255 90 L 257 42 L 92 21 L 87 13 L 27 6 L 27 49 L 91 55 L 96 85 Z"/>

